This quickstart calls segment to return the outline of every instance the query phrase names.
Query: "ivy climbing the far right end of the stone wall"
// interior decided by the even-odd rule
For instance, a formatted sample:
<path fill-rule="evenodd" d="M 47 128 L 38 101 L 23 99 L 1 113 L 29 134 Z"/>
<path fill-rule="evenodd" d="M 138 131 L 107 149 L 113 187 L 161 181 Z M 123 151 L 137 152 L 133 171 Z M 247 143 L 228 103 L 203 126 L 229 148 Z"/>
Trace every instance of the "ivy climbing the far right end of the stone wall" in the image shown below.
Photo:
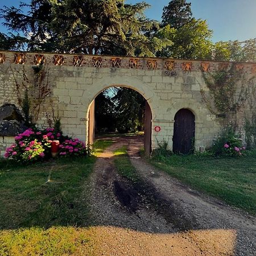
<path fill-rule="evenodd" d="M 201 89 L 203 102 L 223 129 L 233 127 L 243 134 L 247 146 L 256 146 L 255 77 L 246 77 L 232 64 L 229 69 L 202 72 L 209 92 Z M 241 127 L 241 123 L 243 124 Z"/>

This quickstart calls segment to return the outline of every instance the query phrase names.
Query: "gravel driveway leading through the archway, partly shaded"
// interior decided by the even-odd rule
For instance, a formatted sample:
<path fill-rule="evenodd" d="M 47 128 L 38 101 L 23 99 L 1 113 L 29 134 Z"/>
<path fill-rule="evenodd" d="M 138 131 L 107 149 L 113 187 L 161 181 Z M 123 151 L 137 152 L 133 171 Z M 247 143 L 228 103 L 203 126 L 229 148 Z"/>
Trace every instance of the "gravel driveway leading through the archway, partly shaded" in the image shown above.
<path fill-rule="evenodd" d="M 115 171 L 113 151 L 128 146 L 142 177 Z M 255 218 L 192 191 L 139 158 L 141 138 L 115 138 L 91 177 L 95 255 L 256 255 Z"/>

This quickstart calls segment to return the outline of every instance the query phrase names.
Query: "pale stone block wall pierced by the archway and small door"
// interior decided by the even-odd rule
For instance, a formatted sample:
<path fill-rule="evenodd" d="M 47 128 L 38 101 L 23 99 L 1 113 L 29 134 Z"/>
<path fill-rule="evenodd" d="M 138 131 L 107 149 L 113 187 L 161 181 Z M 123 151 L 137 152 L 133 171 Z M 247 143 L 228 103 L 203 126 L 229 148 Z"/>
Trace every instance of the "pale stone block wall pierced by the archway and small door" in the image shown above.
<path fill-rule="evenodd" d="M 197 150 L 210 146 L 220 131 L 220 125 L 202 101 L 200 90 L 208 92 L 202 72 L 214 72 L 232 63 L 40 54 L 0 53 L 0 105 L 7 102 L 19 105 L 17 86 L 22 83 L 27 86 L 26 80 L 34 81 L 32 67 L 43 59 L 51 95 L 40 109 L 36 120 L 39 126 L 47 126 L 47 119 L 54 112 L 61 117 L 65 134 L 86 141 L 88 110 L 94 98 L 106 88 L 125 86 L 141 93 L 151 107 L 153 148 L 163 140 L 172 148 L 174 117 L 182 108 L 195 114 Z M 256 65 L 240 65 L 247 77 L 256 73 Z M 154 130 L 155 126 L 161 127 L 159 133 Z"/>

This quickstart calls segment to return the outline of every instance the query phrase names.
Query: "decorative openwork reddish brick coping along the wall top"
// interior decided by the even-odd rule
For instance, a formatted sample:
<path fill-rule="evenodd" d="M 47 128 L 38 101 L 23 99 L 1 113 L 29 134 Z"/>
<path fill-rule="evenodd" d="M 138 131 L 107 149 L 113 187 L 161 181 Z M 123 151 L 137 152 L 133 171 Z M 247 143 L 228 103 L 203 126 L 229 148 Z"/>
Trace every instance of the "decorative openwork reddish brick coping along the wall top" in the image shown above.
<path fill-rule="evenodd" d="M 77 55 L 71 53 L 0 51 L 0 65 L 40 65 L 92 68 L 130 68 L 144 70 L 162 70 L 166 75 L 175 75 L 176 71 L 211 72 L 228 70 L 232 65 L 241 72 L 256 73 L 256 63 L 236 63 L 215 60 L 161 59 L 156 57 L 124 57 L 107 55 Z"/>

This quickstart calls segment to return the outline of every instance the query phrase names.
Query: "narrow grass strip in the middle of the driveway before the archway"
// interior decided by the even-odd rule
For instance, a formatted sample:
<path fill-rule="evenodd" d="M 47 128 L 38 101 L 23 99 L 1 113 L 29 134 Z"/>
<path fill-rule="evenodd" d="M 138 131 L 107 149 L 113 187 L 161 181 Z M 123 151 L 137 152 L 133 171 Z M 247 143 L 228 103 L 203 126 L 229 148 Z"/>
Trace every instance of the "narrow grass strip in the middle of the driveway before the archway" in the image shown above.
<path fill-rule="evenodd" d="M 131 164 L 131 161 L 127 154 L 127 147 L 123 146 L 121 148 L 118 148 L 114 151 L 114 155 L 114 164 L 117 168 L 118 173 L 122 177 L 125 177 L 133 183 L 137 182 L 139 180 L 139 175 L 136 169 Z"/>

